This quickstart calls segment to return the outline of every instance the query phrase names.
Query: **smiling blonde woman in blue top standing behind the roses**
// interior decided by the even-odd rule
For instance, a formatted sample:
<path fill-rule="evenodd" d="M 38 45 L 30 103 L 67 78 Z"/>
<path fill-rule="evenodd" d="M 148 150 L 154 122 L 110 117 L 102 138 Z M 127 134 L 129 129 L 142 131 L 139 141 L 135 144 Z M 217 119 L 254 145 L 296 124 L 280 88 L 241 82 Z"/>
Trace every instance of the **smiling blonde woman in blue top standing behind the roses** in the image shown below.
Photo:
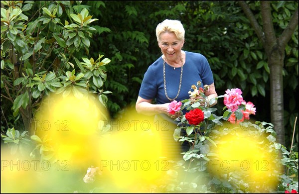
<path fill-rule="evenodd" d="M 167 111 L 172 100 L 189 98 L 191 86 L 198 81 L 202 88 L 204 85 L 210 87 L 210 90 L 205 91 L 205 96 L 209 99 L 218 96 L 207 59 L 199 53 L 183 51 L 184 36 L 184 27 L 178 20 L 165 19 L 157 25 L 156 37 L 162 55 L 145 73 L 136 102 L 137 112 L 155 114 L 155 120 L 160 123 L 157 125 L 159 129 L 170 131 L 170 137 L 166 138 L 168 142 L 174 141 L 171 134 L 177 124 Z"/>

